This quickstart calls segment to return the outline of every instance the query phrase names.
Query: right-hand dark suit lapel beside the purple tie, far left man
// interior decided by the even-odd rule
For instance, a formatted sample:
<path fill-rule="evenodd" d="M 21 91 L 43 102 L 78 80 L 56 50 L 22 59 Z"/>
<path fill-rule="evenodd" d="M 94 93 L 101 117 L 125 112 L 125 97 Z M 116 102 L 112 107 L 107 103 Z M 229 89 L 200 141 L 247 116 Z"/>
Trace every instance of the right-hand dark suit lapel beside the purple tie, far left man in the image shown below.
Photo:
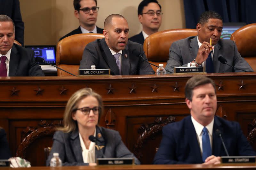
<path fill-rule="evenodd" d="M 9 77 L 13 77 L 16 74 L 20 57 L 18 54 L 18 50 L 15 45 L 12 46 L 11 55 L 10 55 L 10 64 L 9 64 Z"/>

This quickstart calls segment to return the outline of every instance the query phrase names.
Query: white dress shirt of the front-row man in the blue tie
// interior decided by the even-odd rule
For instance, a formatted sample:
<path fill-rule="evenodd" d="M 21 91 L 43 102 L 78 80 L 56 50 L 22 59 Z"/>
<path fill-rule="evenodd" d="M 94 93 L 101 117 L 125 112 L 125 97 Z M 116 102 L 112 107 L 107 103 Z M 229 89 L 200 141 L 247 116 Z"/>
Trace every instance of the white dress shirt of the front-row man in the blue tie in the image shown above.
<path fill-rule="evenodd" d="M 202 135 L 203 135 L 204 126 L 201 125 L 200 123 L 196 122 L 196 120 L 193 118 L 193 116 L 191 116 L 191 120 L 192 120 L 192 123 L 195 127 L 195 130 L 196 130 L 196 138 L 197 138 L 198 144 L 200 146 L 200 152 L 201 152 L 201 155 L 202 155 L 203 154 Z M 212 148 L 213 122 L 214 122 L 214 118 L 212 119 L 211 123 L 209 123 L 207 126 L 205 126 L 207 131 L 208 131 L 209 138 L 210 138 L 211 148 Z"/>

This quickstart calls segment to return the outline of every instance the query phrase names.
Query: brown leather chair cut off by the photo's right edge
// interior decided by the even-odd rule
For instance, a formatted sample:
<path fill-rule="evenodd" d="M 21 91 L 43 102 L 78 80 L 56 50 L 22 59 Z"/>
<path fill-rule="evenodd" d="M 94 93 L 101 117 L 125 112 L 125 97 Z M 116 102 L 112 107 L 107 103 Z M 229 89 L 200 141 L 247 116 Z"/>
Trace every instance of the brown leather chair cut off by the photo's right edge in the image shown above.
<path fill-rule="evenodd" d="M 256 23 L 241 27 L 231 34 L 230 40 L 235 41 L 237 50 L 256 71 Z"/>

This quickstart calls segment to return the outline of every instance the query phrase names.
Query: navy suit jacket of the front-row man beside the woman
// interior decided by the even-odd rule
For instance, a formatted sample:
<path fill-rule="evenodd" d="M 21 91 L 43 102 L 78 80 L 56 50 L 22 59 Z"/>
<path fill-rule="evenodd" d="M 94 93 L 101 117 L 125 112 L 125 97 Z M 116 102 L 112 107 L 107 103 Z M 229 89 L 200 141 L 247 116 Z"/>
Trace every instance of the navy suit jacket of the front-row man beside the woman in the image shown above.
<path fill-rule="evenodd" d="M 229 156 L 256 155 L 238 122 L 214 117 L 212 131 L 212 154 L 227 156 L 216 129 L 222 132 Z M 200 164 L 203 163 L 196 130 L 191 116 L 163 128 L 163 138 L 154 158 L 154 164 Z"/>

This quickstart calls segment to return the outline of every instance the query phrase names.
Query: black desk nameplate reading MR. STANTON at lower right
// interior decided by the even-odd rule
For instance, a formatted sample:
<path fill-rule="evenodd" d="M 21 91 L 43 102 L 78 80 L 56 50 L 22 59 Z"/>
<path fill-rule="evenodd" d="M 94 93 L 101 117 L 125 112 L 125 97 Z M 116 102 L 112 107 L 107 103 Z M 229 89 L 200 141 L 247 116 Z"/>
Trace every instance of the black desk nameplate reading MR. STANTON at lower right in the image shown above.
<path fill-rule="evenodd" d="M 256 163 L 256 156 L 222 156 L 220 162 L 225 163 Z"/>

